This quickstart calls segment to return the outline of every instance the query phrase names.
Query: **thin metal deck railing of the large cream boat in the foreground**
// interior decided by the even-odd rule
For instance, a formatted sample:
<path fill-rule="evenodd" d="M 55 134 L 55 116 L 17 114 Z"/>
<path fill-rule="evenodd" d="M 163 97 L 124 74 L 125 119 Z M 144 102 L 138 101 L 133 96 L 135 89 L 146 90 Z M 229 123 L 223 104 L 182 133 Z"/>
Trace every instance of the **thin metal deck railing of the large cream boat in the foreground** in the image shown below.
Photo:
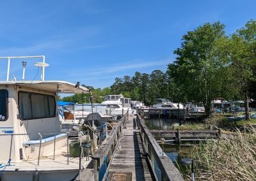
<path fill-rule="evenodd" d="M 56 152 L 56 136 L 59 135 L 59 134 L 67 134 L 67 164 L 69 164 L 69 139 L 68 139 L 68 135 L 72 133 L 73 135 L 74 134 L 77 134 L 78 137 L 80 137 L 79 139 L 81 139 L 81 136 L 82 135 L 85 135 L 85 134 L 88 134 L 88 131 L 72 131 L 72 132 L 59 132 L 59 133 L 18 133 L 18 134 L 13 134 L 13 133 L 9 133 L 9 134 L 0 134 L 0 139 L 1 139 L 1 136 L 11 136 L 11 144 L 10 144 L 10 154 L 9 154 L 9 161 L 8 161 L 8 165 L 10 166 L 10 161 L 11 161 L 11 156 L 12 156 L 12 143 L 13 143 L 13 136 L 29 136 L 29 135 L 38 135 L 38 138 L 39 138 L 39 151 L 38 151 L 38 161 L 37 161 L 37 165 L 39 166 L 40 164 L 40 154 L 41 154 L 41 147 L 42 147 L 42 140 L 45 139 L 43 138 L 43 136 L 47 136 L 47 135 L 51 135 L 53 136 L 54 135 L 54 148 L 53 148 L 53 159 L 52 160 L 55 160 L 55 152 Z M 49 137 L 46 137 L 46 138 L 49 138 Z M 32 141 L 32 140 L 30 140 Z M 32 144 L 32 142 L 31 142 Z M 33 143 L 35 144 L 35 143 Z M 81 147 L 81 145 L 80 145 Z M 81 155 L 80 155 L 81 157 Z M 81 161 L 81 159 L 79 159 L 79 161 Z M 81 163 L 79 163 L 81 164 Z"/>

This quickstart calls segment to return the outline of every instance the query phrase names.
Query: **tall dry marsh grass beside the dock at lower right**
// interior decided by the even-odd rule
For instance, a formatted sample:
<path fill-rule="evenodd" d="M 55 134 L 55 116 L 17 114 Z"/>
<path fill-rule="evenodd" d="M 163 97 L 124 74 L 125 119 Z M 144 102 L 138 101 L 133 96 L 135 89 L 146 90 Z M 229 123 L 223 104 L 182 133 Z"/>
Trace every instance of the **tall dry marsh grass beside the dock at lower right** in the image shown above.
<path fill-rule="evenodd" d="M 191 150 L 195 160 L 195 180 L 256 180 L 256 128 L 246 133 L 236 130 L 215 141 L 200 143 Z M 189 168 L 184 178 L 190 180 Z"/>

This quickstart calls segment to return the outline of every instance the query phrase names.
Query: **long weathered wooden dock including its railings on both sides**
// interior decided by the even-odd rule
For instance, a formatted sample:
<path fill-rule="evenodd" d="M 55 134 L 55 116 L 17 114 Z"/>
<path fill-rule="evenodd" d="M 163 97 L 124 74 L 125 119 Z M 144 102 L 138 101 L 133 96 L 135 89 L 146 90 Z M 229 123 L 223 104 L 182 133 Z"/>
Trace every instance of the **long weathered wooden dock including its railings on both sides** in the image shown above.
<path fill-rule="evenodd" d="M 100 170 L 104 171 L 104 176 L 100 175 Z M 81 171 L 79 180 L 86 181 L 93 178 L 95 181 L 184 181 L 170 158 L 163 154 L 140 115 L 135 119 L 134 115 L 126 114 L 118 120 L 93 154 L 92 164 Z"/>

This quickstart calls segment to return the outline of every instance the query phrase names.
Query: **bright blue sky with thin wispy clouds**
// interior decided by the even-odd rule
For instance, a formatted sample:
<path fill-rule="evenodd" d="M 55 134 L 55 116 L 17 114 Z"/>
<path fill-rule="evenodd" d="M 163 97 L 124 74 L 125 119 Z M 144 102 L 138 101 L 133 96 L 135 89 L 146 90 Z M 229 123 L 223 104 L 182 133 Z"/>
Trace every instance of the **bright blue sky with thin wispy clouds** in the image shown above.
<path fill-rule="evenodd" d="M 0 56 L 45 55 L 46 80 L 109 87 L 135 71 L 166 71 L 180 39 L 206 22 L 227 34 L 256 19 L 256 1 L 0 1 Z M 28 60 L 26 79 L 37 74 Z M 0 80 L 6 79 L 0 60 Z M 21 60 L 10 75 L 22 78 Z M 40 74 L 36 79 L 40 78 Z"/>

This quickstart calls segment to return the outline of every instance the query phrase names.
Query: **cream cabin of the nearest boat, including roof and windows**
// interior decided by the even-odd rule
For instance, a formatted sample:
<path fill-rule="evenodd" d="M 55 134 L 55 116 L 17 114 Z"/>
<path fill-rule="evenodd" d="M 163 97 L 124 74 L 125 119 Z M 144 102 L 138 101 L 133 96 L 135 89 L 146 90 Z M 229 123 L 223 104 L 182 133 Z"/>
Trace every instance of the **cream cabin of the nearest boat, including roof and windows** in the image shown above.
<path fill-rule="evenodd" d="M 81 92 L 88 89 L 63 81 L 0 82 L 0 162 L 44 156 L 54 140 L 63 147 L 67 134 L 61 133 L 57 94 Z"/>

